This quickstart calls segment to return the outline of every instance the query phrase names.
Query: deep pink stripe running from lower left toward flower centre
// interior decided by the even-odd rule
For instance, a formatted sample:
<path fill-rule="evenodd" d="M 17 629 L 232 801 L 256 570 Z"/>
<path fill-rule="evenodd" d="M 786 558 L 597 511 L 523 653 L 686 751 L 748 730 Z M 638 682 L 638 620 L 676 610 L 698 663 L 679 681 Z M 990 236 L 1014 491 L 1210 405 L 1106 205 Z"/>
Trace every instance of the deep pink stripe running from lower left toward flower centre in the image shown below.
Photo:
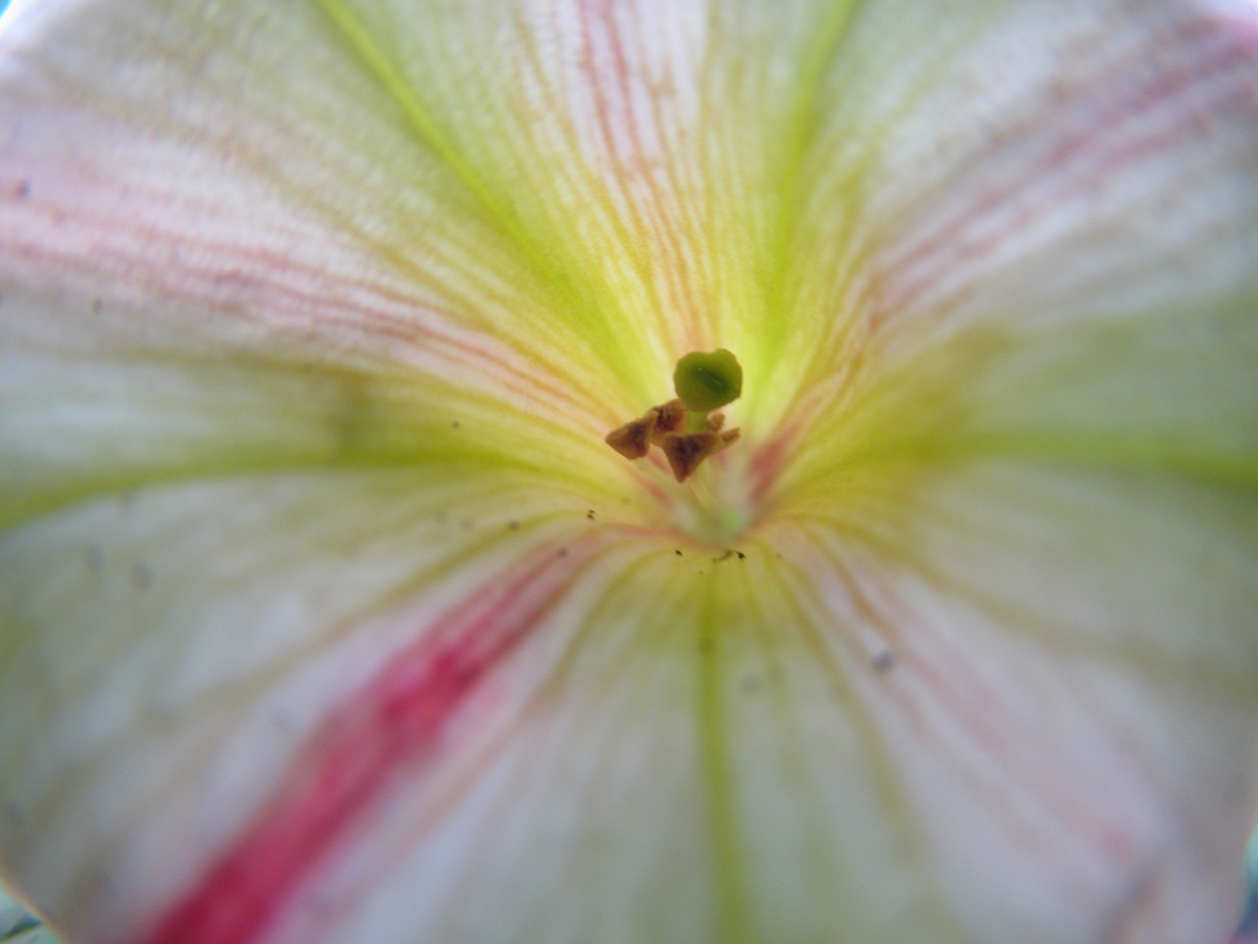
<path fill-rule="evenodd" d="M 274 925 L 390 775 L 439 750 L 477 683 L 551 609 L 593 542 L 472 593 L 403 649 L 316 731 L 264 811 L 143 944 L 249 944 Z"/>

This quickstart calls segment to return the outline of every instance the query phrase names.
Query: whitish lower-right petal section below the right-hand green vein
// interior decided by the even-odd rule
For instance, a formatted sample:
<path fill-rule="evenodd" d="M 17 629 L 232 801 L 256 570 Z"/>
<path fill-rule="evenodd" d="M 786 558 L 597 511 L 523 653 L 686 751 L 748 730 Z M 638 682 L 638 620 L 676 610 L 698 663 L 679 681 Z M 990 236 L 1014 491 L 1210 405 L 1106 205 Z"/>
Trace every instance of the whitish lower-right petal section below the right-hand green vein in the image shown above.
<path fill-rule="evenodd" d="M 1254 803 L 1258 502 L 994 461 L 884 480 L 858 477 L 796 559 L 867 660 L 962 938 L 1224 939 Z"/>

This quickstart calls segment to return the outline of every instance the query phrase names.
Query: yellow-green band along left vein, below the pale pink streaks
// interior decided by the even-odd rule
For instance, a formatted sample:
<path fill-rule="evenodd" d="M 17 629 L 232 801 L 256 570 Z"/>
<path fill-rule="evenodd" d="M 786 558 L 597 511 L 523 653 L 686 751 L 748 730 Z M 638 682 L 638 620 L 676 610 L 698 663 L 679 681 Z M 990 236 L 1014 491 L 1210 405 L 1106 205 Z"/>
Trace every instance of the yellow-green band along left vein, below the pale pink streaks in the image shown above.
<path fill-rule="evenodd" d="M 152 366 L 159 365 L 142 359 L 118 362 L 120 370 Z M 452 475 L 458 475 L 459 468 L 493 469 L 498 475 L 536 477 L 550 488 L 576 488 L 587 497 L 615 491 L 595 471 L 605 464 L 600 443 L 591 443 L 590 437 L 571 427 L 515 409 L 504 412 L 501 402 L 488 394 L 444 384 L 415 385 L 395 373 L 370 375 L 321 366 L 307 374 L 302 365 L 265 359 L 231 365 L 172 357 L 160 366 L 199 371 L 189 373 L 196 381 L 189 389 L 198 396 L 215 385 L 238 391 L 253 385 L 255 395 L 242 403 L 253 412 L 274 415 L 278 438 L 268 439 L 257 429 L 238 433 L 234 425 L 223 423 L 210 430 L 194 428 L 182 438 L 150 435 L 143 443 L 151 449 L 147 456 L 140 449 L 111 457 L 108 437 L 102 432 L 81 443 L 88 448 L 79 459 L 15 454 L 0 471 L 0 532 L 74 505 L 143 487 L 333 469 L 448 469 Z M 258 385 L 259 379 L 267 383 Z M 133 409 L 138 394 L 126 394 L 111 395 L 89 409 L 106 418 L 112 408 Z M 159 415 L 162 428 L 171 424 L 171 418 L 186 428 L 189 415 L 239 408 L 240 403 L 233 402 L 175 398 Z M 24 420 L 21 403 L 10 404 L 10 412 L 18 422 L 31 422 Z M 40 414 L 33 415 L 38 419 Z M 447 419 L 455 415 L 462 418 L 459 429 Z M 278 434 L 286 420 L 288 430 Z M 288 433 L 291 438 L 286 438 Z M 537 447 L 543 441 L 570 461 L 554 462 Z M 172 446 L 177 452 L 171 451 Z M 101 458 L 89 458 L 88 452 Z M 581 461 L 571 461 L 577 456 Z"/>

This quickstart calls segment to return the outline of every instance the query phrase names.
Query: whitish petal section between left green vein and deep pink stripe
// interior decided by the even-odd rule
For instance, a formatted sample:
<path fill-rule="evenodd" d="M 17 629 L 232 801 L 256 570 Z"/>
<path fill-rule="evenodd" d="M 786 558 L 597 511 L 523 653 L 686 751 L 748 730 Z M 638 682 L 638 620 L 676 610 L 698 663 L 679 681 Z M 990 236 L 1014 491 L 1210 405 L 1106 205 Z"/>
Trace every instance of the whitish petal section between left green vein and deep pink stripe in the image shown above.
<path fill-rule="evenodd" d="M 464 598 L 536 619 L 600 527 L 472 467 L 151 488 L 9 531 L 6 860 L 75 936 L 136 933 L 258 816 L 328 707 L 444 644 L 435 615 Z M 503 604 L 512 570 L 548 590 Z"/>

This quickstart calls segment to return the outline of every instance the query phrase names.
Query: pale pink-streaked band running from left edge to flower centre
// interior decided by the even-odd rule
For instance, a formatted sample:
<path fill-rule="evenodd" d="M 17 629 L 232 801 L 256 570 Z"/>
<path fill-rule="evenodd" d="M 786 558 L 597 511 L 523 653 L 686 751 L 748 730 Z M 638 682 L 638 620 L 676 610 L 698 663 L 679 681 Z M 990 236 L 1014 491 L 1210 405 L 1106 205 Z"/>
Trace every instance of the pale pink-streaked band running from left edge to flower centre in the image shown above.
<path fill-rule="evenodd" d="M 267 334 L 323 339 L 330 352 L 382 352 L 455 384 L 474 378 L 591 430 L 605 423 L 527 356 L 462 325 L 452 289 L 409 291 L 372 263 L 370 245 L 267 203 L 264 189 L 250 191 L 264 208 L 257 213 L 272 218 L 258 227 L 231 204 L 244 199 L 233 190 L 245 191 L 239 181 L 200 181 L 206 196 L 187 193 L 185 181 L 116 180 L 111 166 L 58 157 L 33 172 L 29 160 L 0 155 L 0 277 L 54 279 L 84 293 L 108 283 L 131 303 L 181 302 Z"/>

